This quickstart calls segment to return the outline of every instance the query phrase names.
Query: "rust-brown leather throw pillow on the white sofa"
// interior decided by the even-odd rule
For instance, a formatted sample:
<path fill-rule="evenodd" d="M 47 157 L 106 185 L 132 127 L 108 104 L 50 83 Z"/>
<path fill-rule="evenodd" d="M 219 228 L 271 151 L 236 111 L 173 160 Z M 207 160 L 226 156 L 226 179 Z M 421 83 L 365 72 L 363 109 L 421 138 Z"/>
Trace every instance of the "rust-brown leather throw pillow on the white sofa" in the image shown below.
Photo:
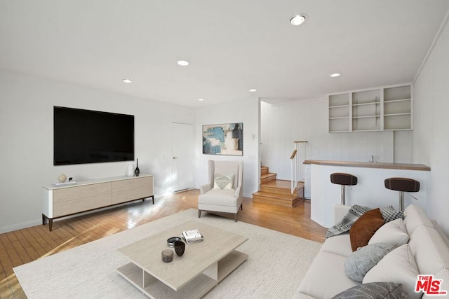
<path fill-rule="evenodd" d="M 367 211 L 360 216 L 349 230 L 352 251 L 368 245 L 368 241 L 382 225 L 384 225 L 384 218 L 379 208 Z"/>

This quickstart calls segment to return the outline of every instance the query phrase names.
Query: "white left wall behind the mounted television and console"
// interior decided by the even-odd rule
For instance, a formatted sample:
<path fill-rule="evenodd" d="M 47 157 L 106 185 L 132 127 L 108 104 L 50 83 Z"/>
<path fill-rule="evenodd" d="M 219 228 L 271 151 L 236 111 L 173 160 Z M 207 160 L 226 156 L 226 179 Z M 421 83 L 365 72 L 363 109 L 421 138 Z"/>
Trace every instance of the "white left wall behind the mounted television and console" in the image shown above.
<path fill-rule="evenodd" d="M 0 232 L 41 223 L 41 186 L 61 173 L 126 174 L 128 162 L 53 166 L 54 105 L 133 114 L 140 172 L 154 174 L 156 195 L 170 190 L 172 122 L 193 124 L 194 109 L 0 71 Z"/>

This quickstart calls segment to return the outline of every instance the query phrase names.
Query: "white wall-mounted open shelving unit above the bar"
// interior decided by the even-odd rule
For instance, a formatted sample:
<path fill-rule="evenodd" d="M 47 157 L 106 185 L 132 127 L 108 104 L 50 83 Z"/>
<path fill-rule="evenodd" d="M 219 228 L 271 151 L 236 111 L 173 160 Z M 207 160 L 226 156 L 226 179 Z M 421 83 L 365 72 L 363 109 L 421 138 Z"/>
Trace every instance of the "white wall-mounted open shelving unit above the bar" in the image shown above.
<path fill-rule="evenodd" d="M 410 85 L 329 95 L 329 132 L 412 130 Z"/>

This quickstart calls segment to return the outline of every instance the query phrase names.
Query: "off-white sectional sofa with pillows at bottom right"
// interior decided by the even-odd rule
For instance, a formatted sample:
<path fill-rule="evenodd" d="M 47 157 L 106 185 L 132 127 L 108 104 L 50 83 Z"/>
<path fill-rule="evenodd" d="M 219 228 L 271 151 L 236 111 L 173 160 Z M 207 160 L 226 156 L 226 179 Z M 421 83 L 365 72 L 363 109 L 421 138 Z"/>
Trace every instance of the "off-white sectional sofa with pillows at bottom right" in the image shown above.
<path fill-rule="evenodd" d="M 336 215 L 341 219 L 350 207 L 337 207 Z M 351 249 L 349 233 L 329 237 L 302 279 L 294 298 L 333 298 L 335 295 L 354 286 L 369 286 L 375 281 L 402 284 L 402 298 L 449 298 L 449 239 L 435 221 L 431 221 L 424 211 L 410 205 L 404 211 L 404 218 L 398 219 L 396 228 L 388 223 L 382 225 L 370 239 L 375 242 L 393 239 L 395 248 L 383 256 L 363 277 L 355 281 L 347 276 L 344 264 L 354 254 Z M 400 236 L 403 232 L 402 237 Z M 391 240 L 390 240 L 391 241 Z M 407 242 L 408 241 L 408 242 Z M 439 291 L 448 295 L 427 295 L 416 293 L 417 275 L 434 275 L 442 279 Z M 341 297 L 345 298 L 345 297 Z"/>

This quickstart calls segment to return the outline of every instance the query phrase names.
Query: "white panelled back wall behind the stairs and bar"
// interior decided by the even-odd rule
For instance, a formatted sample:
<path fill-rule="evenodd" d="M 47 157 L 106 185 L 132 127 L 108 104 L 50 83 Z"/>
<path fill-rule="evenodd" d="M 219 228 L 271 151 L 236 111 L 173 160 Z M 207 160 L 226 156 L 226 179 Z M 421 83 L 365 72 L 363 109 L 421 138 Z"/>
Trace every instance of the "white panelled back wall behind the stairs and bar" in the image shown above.
<path fill-rule="evenodd" d="M 308 141 L 307 159 L 411 162 L 409 132 L 328 133 L 327 98 L 261 104 L 262 165 L 290 179 L 293 141 Z M 397 140 L 397 141 L 396 141 Z M 395 155 L 399 158 L 395 158 Z"/>

